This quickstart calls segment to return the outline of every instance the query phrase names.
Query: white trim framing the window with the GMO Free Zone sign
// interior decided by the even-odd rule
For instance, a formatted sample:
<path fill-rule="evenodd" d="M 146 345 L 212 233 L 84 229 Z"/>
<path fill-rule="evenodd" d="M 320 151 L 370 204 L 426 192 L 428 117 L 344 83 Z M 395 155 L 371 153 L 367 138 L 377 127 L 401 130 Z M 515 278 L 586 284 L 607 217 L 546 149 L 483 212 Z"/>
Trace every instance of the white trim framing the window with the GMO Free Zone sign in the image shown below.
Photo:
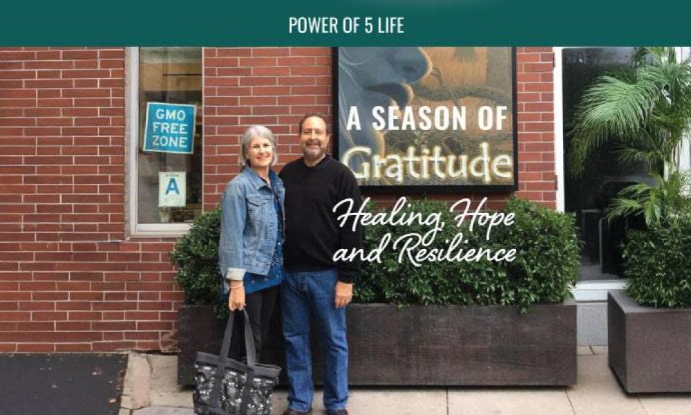
<path fill-rule="evenodd" d="M 138 223 L 139 48 L 126 48 L 126 221 L 130 237 L 180 237 L 190 223 Z M 202 59 L 204 50 L 202 48 Z M 202 71 L 202 85 L 204 84 Z M 204 155 L 202 154 L 202 166 Z M 202 189 L 204 174 L 202 173 Z M 202 206 L 204 205 L 202 199 Z"/>

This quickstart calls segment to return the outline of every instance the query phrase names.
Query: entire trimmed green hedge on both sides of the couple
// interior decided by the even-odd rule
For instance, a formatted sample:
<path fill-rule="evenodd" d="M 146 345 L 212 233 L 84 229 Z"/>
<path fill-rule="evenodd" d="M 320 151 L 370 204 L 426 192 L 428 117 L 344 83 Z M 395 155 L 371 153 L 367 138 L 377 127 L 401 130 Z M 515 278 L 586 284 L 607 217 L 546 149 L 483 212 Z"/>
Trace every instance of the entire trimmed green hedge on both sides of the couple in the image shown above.
<path fill-rule="evenodd" d="M 574 218 L 520 199 L 510 199 L 504 212 L 515 212 L 515 223 L 493 228 L 491 240 L 484 240 L 485 230 L 474 232 L 456 228 L 448 205 L 440 201 L 410 201 L 407 211 L 423 216 L 439 212 L 444 229 L 435 238 L 437 244 L 464 232 L 468 247 L 493 250 L 516 248 L 512 263 L 422 262 L 416 267 L 408 260 L 397 261 L 399 250 L 389 246 L 381 255 L 381 264 L 365 263 L 355 286 L 355 301 L 393 304 L 518 304 L 522 310 L 536 303 L 558 303 L 567 298 L 576 283 L 579 263 L 578 239 Z M 171 253 L 178 268 L 176 281 L 185 293 L 187 304 L 218 304 L 218 235 L 220 211 L 209 212 L 194 221 L 187 235 L 180 238 Z M 424 234 L 426 226 L 366 227 L 366 252 L 379 245 L 387 232 L 401 235 Z"/>

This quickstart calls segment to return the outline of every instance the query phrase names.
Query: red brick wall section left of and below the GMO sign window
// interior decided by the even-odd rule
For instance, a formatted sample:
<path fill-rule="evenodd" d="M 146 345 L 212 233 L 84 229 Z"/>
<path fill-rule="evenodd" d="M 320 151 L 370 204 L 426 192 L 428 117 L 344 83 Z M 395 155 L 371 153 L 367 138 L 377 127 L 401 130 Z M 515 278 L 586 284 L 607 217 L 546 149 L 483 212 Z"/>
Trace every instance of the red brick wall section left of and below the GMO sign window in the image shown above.
<path fill-rule="evenodd" d="M 172 344 L 172 241 L 125 240 L 124 62 L 0 50 L 0 351 Z"/>

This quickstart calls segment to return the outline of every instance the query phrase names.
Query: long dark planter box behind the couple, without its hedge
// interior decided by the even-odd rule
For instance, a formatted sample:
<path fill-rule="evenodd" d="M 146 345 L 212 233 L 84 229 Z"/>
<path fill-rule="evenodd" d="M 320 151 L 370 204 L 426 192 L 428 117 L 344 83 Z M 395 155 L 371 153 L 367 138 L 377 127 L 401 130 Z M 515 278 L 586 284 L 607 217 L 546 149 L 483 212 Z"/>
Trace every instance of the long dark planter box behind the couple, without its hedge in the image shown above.
<path fill-rule="evenodd" d="M 196 316 L 186 317 L 190 312 Z M 536 305 L 525 315 L 513 306 L 398 308 L 388 304 L 351 304 L 347 315 L 350 385 L 576 383 L 573 301 Z M 211 347 L 212 353 L 220 349 L 220 323 L 213 329 L 202 318 L 207 317 L 198 310 L 180 308 L 178 382 L 183 385 L 193 382 L 191 366 L 200 347 Z M 200 329 L 202 333 L 198 333 Z M 269 354 L 280 365 L 280 340 L 272 343 L 278 349 Z M 186 350 L 191 345 L 196 349 Z M 319 356 L 316 349 L 317 383 L 321 378 Z"/>

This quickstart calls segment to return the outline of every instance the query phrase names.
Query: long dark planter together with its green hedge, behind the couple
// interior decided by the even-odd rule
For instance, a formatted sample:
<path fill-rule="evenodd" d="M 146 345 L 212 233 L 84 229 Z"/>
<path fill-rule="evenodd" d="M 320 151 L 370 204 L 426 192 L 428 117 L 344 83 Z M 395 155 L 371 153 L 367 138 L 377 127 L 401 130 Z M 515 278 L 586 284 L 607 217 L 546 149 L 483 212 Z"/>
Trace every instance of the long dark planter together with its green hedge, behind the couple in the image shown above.
<path fill-rule="evenodd" d="M 455 228 L 445 203 L 410 201 L 407 209 L 442 214 L 446 225 L 435 239 L 439 247 L 464 232 L 468 246 L 516 248 L 516 259 L 415 266 L 398 261 L 399 252 L 384 250 L 381 264 L 367 263 L 356 284 L 359 304 L 347 313 L 352 385 L 574 384 L 576 306 L 565 302 L 579 256 L 573 218 L 511 199 L 505 211 L 515 213 L 515 223 L 495 228 L 491 241 L 484 241 L 482 227 Z M 171 255 L 186 303 L 207 304 L 180 308 L 178 382 L 185 385 L 193 382 L 193 354 L 218 348 L 222 334 L 210 305 L 218 304 L 218 225 L 218 212 L 203 215 Z M 422 228 L 370 225 L 366 251 L 388 232 Z M 317 351 L 317 381 L 320 361 Z"/>

